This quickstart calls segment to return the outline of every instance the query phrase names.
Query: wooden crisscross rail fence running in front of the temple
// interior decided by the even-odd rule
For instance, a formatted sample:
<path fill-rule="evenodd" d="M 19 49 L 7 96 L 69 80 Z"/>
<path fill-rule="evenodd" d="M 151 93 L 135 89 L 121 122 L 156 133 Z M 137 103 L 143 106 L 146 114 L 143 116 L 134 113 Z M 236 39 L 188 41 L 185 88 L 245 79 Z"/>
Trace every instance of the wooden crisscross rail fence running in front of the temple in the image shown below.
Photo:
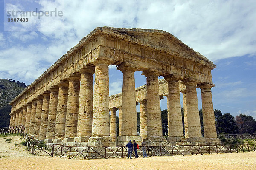
<path fill-rule="evenodd" d="M 108 159 L 112 157 L 125 158 L 128 148 L 116 147 L 92 147 L 92 146 L 65 146 L 61 144 L 47 144 L 29 139 L 24 126 L 0 128 L 0 134 L 20 134 L 27 142 L 27 148 L 34 155 L 67 157 L 68 159 Z M 198 155 L 212 153 L 233 153 L 255 151 L 255 144 L 241 145 L 183 145 L 183 146 L 147 146 L 146 153 L 151 156 L 176 156 L 176 155 Z M 141 148 L 137 149 L 138 156 L 142 156 Z M 132 153 L 133 156 L 134 152 Z"/>

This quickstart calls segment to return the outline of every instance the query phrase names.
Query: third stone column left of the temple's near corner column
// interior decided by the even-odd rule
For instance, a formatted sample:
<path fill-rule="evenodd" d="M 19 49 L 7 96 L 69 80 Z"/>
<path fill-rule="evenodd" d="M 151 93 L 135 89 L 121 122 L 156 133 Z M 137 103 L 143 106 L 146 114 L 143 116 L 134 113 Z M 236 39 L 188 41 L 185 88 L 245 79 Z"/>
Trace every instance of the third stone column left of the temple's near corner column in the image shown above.
<path fill-rule="evenodd" d="M 58 105 L 56 113 L 55 124 L 55 139 L 56 142 L 61 142 L 65 136 L 65 123 L 67 113 L 67 94 L 68 94 L 68 81 L 62 81 L 58 84 Z"/>

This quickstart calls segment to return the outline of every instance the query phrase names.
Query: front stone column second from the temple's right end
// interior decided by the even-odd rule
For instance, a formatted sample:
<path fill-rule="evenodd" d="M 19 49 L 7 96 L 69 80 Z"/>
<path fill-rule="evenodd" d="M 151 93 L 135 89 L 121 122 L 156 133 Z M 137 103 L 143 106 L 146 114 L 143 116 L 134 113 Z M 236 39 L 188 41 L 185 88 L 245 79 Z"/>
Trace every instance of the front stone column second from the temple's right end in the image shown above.
<path fill-rule="evenodd" d="M 198 111 L 198 99 L 196 93 L 196 82 L 187 81 L 186 85 L 186 108 L 187 108 L 187 121 L 188 121 L 188 137 L 192 142 L 201 141 L 201 127 Z"/>

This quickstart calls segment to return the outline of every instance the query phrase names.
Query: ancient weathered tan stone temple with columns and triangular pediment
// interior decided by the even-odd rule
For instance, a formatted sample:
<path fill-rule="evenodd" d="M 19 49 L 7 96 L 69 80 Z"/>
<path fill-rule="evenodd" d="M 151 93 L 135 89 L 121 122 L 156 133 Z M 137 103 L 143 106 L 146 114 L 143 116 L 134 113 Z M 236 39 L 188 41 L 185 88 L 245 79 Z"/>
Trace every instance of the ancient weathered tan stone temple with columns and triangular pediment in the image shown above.
<path fill-rule="evenodd" d="M 113 96 L 109 96 L 109 65 L 116 65 L 123 75 L 122 93 Z M 129 139 L 147 138 L 155 142 L 216 143 L 211 92 L 215 86 L 211 70 L 215 67 L 168 32 L 99 27 L 10 102 L 10 126 L 24 125 L 29 134 L 47 142 L 119 145 Z M 142 71 L 146 85 L 135 88 L 135 71 Z M 196 88 L 201 89 L 203 137 Z M 161 125 L 163 96 L 168 102 L 167 140 Z M 134 119 L 138 103 L 140 135 Z"/>

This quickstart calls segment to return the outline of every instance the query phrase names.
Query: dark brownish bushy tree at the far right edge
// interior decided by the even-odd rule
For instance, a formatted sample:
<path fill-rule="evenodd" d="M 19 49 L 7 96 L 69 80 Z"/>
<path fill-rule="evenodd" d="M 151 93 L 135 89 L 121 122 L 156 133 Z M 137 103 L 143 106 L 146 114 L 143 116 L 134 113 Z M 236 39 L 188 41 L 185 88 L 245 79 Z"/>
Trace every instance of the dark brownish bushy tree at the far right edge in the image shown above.
<path fill-rule="evenodd" d="M 256 133 L 256 121 L 252 116 L 239 114 L 236 116 L 236 124 L 239 129 L 239 134 Z"/>

